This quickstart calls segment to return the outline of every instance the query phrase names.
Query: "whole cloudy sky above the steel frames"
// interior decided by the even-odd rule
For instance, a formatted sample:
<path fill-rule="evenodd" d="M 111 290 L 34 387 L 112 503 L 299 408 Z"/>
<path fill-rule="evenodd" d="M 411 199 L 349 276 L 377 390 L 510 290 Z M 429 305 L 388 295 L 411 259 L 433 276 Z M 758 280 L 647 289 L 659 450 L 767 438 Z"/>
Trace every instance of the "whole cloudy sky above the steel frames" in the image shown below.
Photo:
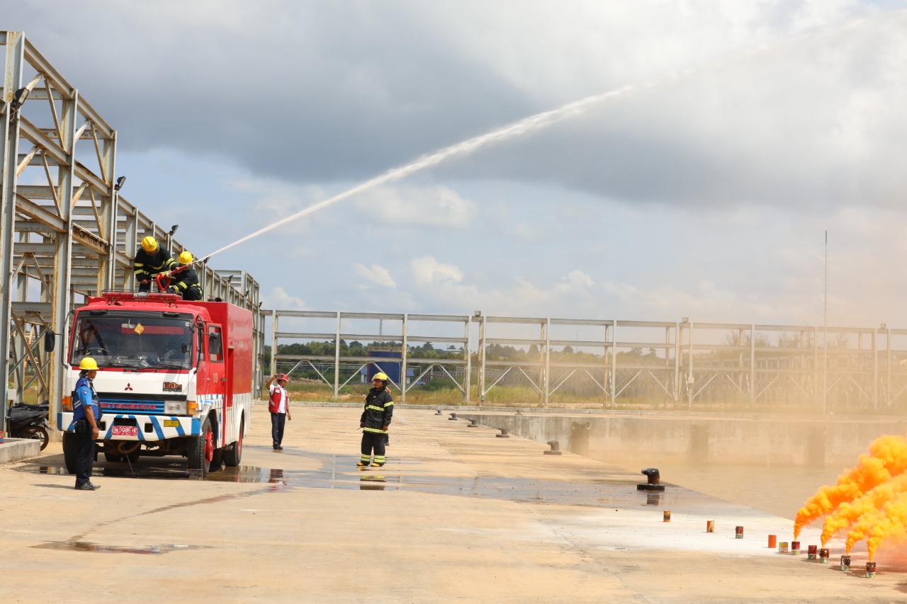
<path fill-rule="evenodd" d="M 266 307 L 907 327 L 907 1 L 6 6 Z M 611 93 L 611 94 L 608 94 Z"/>

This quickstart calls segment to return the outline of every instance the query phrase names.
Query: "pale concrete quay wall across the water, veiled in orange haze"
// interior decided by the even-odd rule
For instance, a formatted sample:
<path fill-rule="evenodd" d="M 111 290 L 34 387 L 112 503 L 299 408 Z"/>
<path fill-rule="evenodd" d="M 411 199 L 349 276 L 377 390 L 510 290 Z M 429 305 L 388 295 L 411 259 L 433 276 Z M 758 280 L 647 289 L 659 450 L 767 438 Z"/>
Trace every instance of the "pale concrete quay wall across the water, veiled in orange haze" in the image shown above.
<path fill-rule="evenodd" d="M 827 418 L 776 415 L 585 414 L 571 411 L 460 412 L 457 417 L 507 429 L 562 451 L 602 462 L 759 463 L 851 466 L 883 434 L 907 434 L 903 417 Z"/>

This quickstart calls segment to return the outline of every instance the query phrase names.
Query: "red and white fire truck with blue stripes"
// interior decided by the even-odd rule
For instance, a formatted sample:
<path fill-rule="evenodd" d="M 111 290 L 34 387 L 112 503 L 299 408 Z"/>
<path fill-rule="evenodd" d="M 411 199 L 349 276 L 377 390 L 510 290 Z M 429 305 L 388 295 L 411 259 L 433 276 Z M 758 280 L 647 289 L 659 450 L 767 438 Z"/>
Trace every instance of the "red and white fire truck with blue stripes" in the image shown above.
<path fill-rule="evenodd" d="M 73 317 L 63 392 L 79 363 L 98 364 L 98 441 L 109 462 L 181 455 L 190 474 L 239 465 L 252 405 L 252 314 L 226 302 L 164 293 L 104 292 Z M 57 426 L 75 471 L 72 399 Z"/>

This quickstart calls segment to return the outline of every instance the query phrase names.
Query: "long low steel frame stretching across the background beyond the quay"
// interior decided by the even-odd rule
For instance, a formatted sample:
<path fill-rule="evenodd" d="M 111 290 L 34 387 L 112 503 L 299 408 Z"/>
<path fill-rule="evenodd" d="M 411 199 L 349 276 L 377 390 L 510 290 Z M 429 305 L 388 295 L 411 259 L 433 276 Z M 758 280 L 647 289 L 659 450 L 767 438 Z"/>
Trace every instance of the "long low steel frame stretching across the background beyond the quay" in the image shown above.
<path fill-rule="evenodd" d="M 463 402 L 476 403 L 503 385 L 529 385 L 537 395 L 532 404 L 548 406 L 559 391 L 584 383 L 595 395 L 590 399 L 602 408 L 615 408 L 631 400 L 655 403 L 662 408 L 693 409 L 701 405 L 733 406 L 734 410 L 789 408 L 821 410 L 853 407 L 883 410 L 907 408 L 907 329 L 888 326 L 818 327 L 777 326 L 680 321 L 620 321 L 537 317 L 484 317 L 448 315 L 400 315 L 320 311 L 268 311 L 271 317 L 271 374 L 278 363 L 314 368 L 335 399 L 340 389 L 366 365 L 380 370 L 382 362 L 399 363 L 402 370 L 401 402 L 420 378 L 439 365 L 463 393 Z M 327 321 L 332 328 L 320 331 L 290 331 L 280 328 L 291 317 Z M 347 330 L 353 320 L 399 325 L 391 331 Z M 449 336 L 450 329 L 419 330 L 414 325 L 455 326 L 463 336 Z M 520 336 L 504 333 L 515 327 Z M 557 327 L 597 330 L 600 338 L 556 337 Z M 537 330 L 538 336 L 525 335 Z M 475 334 L 477 332 L 477 336 Z M 392 343 L 399 354 L 390 357 L 341 356 L 341 341 Z M 333 355 L 289 355 L 279 346 L 288 342 L 333 343 Z M 410 344 L 433 342 L 460 346 L 463 353 L 452 359 L 409 356 Z M 494 358 L 493 346 L 512 346 L 538 351 L 520 361 Z M 591 350 L 586 360 L 571 361 L 563 354 L 571 349 Z M 634 350 L 648 349 L 646 356 L 628 360 Z M 466 354 L 465 351 L 469 351 Z M 559 354 L 560 353 L 560 354 Z M 473 361 L 474 358 L 474 361 Z M 589 360 L 589 359 L 592 360 Z M 341 379 L 343 366 L 350 375 Z M 334 379 L 321 369 L 329 367 Z M 408 369 L 416 368 L 413 379 Z M 475 375 L 473 375 L 475 374 Z M 473 382 L 474 380 L 474 382 Z"/>

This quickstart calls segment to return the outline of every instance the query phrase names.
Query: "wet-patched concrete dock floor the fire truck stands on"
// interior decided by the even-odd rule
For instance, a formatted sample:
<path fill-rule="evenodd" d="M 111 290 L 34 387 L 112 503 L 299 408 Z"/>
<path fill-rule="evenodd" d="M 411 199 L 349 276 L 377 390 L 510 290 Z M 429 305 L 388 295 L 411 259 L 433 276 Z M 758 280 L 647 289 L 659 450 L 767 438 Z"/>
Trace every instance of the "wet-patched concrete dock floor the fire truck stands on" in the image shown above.
<path fill-rule="evenodd" d="M 0 466 L 5 602 L 907 601 L 907 564 L 864 574 L 767 547 L 792 522 L 434 409 L 399 409 L 384 468 L 356 469 L 360 411 L 292 408 L 272 450 L 258 404 L 243 465 L 95 464 L 73 490 L 59 443 Z M 658 460 L 652 465 L 657 466 Z M 641 469 L 641 468 L 640 468 Z M 670 511 L 670 521 L 664 521 Z M 715 532 L 707 532 L 715 521 Z M 736 539 L 735 527 L 744 527 Z"/>

